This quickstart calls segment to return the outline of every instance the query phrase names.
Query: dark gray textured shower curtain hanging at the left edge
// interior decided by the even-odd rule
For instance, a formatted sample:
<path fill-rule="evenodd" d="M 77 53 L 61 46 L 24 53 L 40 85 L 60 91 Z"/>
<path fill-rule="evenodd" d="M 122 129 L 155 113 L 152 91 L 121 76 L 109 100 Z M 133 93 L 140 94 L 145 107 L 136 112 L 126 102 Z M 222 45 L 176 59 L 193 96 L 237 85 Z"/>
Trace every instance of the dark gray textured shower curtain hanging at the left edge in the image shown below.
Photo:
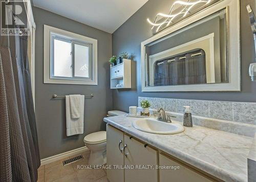
<path fill-rule="evenodd" d="M 0 180 L 37 181 L 40 156 L 26 35 L 0 36 L 0 94 Z"/>

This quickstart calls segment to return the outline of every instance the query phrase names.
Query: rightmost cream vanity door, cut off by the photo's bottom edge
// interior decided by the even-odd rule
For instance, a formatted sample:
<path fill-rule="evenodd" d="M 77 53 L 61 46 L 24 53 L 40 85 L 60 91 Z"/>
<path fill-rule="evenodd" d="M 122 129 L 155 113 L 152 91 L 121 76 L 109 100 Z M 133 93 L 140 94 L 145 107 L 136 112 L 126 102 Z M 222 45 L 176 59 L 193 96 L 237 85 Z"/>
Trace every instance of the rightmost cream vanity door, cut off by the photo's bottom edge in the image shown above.
<path fill-rule="evenodd" d="M 159 167 L 168 167 L 168 166 L 179 166 L 180 169 L 162 169 L 159 168 L 159 181 L 160 182 L 176 182 L 176 181 L 191 181 L 191 182 L 207 182 L 207 181 L 216 181 L 209 178 L 208 176 L 192 169 L 167 155 L 160 153 L 159 154 Z"/>

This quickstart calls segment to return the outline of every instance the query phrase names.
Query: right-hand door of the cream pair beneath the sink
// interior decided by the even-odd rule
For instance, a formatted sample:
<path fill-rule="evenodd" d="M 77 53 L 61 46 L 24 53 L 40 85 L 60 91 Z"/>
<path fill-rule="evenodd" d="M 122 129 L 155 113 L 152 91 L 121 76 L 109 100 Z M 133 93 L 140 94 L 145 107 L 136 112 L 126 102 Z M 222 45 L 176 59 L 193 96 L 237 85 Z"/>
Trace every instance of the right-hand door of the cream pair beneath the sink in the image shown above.
<path fill-rule="evenodd" d="M 124 135 L 124 165 L 125 167 L 133 166 L 134 169 L 125 169 L 124 178 L 125 182 L 135 181 L 158 181 L 158 173 L 156 170 L 157 165 L 157 150 L 150 146 L 144 146 L 144 143 L 137 141 L 130 136 Z M 150 166 L 153 168 L 151 169 Z M 139 169 L 147 167 L 148 169 Z"/>

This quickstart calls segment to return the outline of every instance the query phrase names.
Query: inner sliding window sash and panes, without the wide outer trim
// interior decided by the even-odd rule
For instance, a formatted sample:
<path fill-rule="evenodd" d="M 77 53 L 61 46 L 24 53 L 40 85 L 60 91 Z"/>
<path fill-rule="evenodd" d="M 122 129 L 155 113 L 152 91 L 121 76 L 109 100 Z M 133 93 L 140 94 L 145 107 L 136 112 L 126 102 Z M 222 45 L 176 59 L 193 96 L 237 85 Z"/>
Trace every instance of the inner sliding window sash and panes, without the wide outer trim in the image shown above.
<path fill-rule="evenodd" d="M 51 34 L 51 78 L 90 79 L 91 44 Z"/>

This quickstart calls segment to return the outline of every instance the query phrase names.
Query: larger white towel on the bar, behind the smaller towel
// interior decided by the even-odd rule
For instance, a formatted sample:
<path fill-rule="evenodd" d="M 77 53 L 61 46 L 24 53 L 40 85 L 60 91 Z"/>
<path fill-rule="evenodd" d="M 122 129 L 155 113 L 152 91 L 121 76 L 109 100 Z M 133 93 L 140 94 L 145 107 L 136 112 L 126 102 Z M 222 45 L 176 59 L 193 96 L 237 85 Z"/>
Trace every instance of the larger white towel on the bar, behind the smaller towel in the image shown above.
<path fill-rule="evenodd" d="M 66 131 L 67 136 L 83 134 L 83 112 L 84 112 L 84 95 L 80 95 L 80 117 L 71 118 L 70 96 L 66 95 Z"/>

